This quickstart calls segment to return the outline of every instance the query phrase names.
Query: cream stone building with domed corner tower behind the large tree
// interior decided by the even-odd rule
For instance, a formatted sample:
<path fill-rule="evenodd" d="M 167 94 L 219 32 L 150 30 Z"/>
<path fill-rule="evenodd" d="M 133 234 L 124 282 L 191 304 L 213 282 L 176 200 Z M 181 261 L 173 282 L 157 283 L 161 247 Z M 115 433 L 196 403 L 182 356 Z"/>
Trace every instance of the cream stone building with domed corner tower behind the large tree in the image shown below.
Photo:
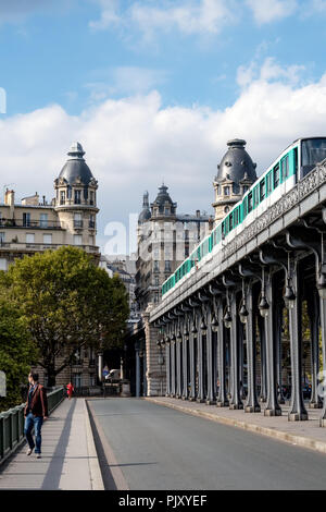
<path fill-rule="evenodd" d="M 36 193 L 18 204 L 14 191 L 7 190 L 4 203 L 0 205 L 0 269 L 25 255 L 57 249 L 62 246 L 76 246 L 91 255 L 98 264 L 99 247 L 97 234 L 97 190 L 98 182 L 87 166 L 85 151 L 79 143 L 68 150 L 68 159 L 54 181 L 55 197 L 48 203 L 40 200 Z M 58 358 L 58 366 L 61 358 Z M 41 367 L 35 368 L 40 381 L 47 385 L 47 376 Z M 58 377 L 57 383 L 72 381 L 75 387 L 97 383 L 97 362 L 95 351 L 77 351 L 73 364 Z"/>

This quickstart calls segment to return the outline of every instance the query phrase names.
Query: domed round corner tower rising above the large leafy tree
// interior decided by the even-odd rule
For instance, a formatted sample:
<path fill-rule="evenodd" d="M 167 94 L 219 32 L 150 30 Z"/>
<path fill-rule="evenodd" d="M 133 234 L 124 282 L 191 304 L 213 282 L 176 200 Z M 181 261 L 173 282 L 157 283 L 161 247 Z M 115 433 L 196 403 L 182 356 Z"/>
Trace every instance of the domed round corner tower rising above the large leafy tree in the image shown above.
<path fill-rule="evenodd" d="M 74 143 L 68 159 L 54 181 L 55 210 L 66 231 L 66 244 L 96 246 L 98 182 L 87 166 L 82 144 Z M 90 248 L 91 251 L 91 248 Z"/>

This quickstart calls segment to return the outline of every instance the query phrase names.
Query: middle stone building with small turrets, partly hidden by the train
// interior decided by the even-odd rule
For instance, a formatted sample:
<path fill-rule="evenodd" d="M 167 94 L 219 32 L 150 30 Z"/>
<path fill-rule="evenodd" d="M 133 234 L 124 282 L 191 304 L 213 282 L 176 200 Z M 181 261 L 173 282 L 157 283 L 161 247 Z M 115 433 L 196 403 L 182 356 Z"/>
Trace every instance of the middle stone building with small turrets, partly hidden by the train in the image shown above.
<path fill-rule="evenodd" d="M 145 193 L 138 219 L 136 263 L 136 298 L 141 312 L 149 303 L 159 303 L 163 282 L 212 227 L 213 218 L 200 210 L 195 215 L 178 215 L 166 185 L 159 187 L 151 205 L 148 192 Z"/>

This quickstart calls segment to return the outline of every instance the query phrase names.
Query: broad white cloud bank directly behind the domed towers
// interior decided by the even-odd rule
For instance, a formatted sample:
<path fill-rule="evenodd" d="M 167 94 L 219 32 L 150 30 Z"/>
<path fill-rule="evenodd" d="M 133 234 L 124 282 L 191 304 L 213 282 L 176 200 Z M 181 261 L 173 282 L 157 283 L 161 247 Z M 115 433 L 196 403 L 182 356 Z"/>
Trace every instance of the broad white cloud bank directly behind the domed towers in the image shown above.
<path fill-rule="evenodd" d="M 17 198 L 36 191 L 53 197 L 53 180 L 77 139 L 99 180 L 99 241 L 106 222 L 139 211 L 145 190 L 153 200 L 162 178 L 178 211 L 212 211 L 212 181 L 229 138 L 248 142 L 261 173 L 294 138 L 325 132 L 326 75 L 309 85 L 292 75 L 267 60 L 225 110 L 163 108 L 152 92 L 105 100 L 78 117 L 53 105 L 3 119 L 0 194 L 14 183 Z"/>

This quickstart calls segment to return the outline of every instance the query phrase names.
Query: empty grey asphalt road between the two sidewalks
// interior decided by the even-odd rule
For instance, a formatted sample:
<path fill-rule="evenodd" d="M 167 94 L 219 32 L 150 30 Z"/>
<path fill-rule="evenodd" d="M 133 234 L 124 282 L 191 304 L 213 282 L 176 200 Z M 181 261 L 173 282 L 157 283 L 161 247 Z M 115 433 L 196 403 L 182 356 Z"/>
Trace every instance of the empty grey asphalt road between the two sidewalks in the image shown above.
<path fill-rule="evenodd" d="M 141 399 L 90 405 L 130 490 L 326 489 L 326 454 Z"/>

